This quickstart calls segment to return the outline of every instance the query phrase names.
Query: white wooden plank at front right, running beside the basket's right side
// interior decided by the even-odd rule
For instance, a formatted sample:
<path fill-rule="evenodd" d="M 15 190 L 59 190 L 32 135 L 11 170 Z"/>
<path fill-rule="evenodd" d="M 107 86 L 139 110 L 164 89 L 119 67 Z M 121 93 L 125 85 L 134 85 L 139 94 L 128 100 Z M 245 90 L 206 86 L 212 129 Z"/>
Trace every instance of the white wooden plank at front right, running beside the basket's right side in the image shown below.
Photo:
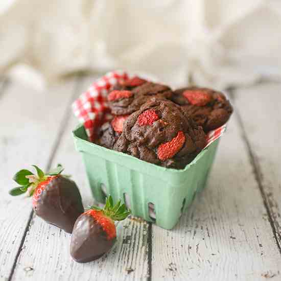
<path fill-rule="evenodd" d="M 175 229 L 153 225 L 152 280 L 280 279 L 280 252 L 241 134 L 235 114 L 206 189 Z"/>

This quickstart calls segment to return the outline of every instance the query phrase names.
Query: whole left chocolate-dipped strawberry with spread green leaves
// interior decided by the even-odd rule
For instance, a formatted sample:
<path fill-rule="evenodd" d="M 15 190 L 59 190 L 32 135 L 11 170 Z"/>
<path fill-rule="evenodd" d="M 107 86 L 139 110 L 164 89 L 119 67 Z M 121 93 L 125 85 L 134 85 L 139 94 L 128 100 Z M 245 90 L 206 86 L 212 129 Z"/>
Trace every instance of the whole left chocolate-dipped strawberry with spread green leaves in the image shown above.
<path fill-rule="evenodd" d="M 33 167 L 37 175 L 29 170 L 15 174 L 13 179 L 21 186 L 9 193 L 15 196 L 28 192 L 33 197 L 33 209 L 38 217 L 71 233 L 76 219 L 84 212 L 76 183 L 61 175 L 61 165 L 48 174 Z"/>

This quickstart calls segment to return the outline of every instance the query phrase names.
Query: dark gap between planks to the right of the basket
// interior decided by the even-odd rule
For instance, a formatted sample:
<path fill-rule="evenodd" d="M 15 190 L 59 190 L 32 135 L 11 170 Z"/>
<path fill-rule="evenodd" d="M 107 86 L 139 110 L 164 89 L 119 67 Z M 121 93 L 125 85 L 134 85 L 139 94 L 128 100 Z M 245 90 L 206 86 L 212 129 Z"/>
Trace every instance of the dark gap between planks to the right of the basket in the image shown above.
<path fill-rule="evenodd" d="M 230 97 L 233 101 L 233 104 L 235 105 L 236 104 L 235 88 L 229 88 L 228 92 L 229 92 L 229 95 L 230 95 Z M 241 130 L 242 139 L 244 140 L 244 142 L 246 144 L 248 157 L 250 159 L 250 163 L 251 163 L 252 168 L 253 168 L 255 180 L 257 182 L 257 185 L 259 186 L 259 190 L 260 190 L 261 196 L 263 198 L 263 203 L 264 203 L 264 206 L 265 206 L 265 209 L 266 209 L 266 212 L 267 212 L 268 221 L 269 221 L 271 229 L 272 229 L 272 233 L 273 233 L 273 236 L 274 236 L 274 239 L 275 239 L 275 242 L 276 242 L 276 246 L 278 247 L 279 252 L 281 254 L 281 234 L 278 233 L 278 229 L 275 226 L 274 218 L 273 218 L 272 213 L 270 211 L 270 199 L 268 198 L 268 196 L 265 192 L 265 189 L 264 189 L 264 185 L 262 183 L 262 172 L 261 172 L 261 169 L 260 169 L 260 164 L 256 160 L 256 156 L 255 156 L 255 154 L 254 154 L 254 152 L 251 148 L 250 141 L 249 141 L 249 138 L 247 136 L 246 129 L 243 125 L 243 120 L 242 120 L 241 114 L 239 112 L 238 106 L 235 107 L 235 113 L 234 114 L 236 115 L 238 125 L 239 125 L 240 130 Z"/>

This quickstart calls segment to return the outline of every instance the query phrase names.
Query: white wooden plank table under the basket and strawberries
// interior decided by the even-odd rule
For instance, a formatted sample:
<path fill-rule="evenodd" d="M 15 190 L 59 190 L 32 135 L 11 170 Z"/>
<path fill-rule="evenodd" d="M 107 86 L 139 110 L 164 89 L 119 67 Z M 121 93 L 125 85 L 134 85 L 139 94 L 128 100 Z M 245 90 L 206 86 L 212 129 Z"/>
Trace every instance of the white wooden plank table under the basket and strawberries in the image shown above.
<path fill-rule="evenodd" d="M 59 162 L 92 203 L 70 109 L 91 80 L 45 92 L 0 82 L 0 280 L 281 280 L 281 84 L 231 91 L 235 113 L 207 187 L 173 230 L 127 219 L 96 262 L 75 263 L 71 236 L 9 196 L 14 172 Z"/>

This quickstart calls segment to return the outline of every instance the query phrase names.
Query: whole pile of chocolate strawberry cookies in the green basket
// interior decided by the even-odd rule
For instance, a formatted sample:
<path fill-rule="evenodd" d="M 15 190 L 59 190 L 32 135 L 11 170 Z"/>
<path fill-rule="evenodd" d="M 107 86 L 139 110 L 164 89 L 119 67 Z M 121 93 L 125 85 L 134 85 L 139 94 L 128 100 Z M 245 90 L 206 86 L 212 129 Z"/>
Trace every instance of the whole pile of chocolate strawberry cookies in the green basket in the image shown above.
<path fill-rule="evenodd" d="M 206 145 L 206 133 L 233 111 L 223 93 L 208 88 L 172 90 L 133 77 L 108 94 L 112 120 L 96 143 L 163 167 L 183 169 Z"/>

